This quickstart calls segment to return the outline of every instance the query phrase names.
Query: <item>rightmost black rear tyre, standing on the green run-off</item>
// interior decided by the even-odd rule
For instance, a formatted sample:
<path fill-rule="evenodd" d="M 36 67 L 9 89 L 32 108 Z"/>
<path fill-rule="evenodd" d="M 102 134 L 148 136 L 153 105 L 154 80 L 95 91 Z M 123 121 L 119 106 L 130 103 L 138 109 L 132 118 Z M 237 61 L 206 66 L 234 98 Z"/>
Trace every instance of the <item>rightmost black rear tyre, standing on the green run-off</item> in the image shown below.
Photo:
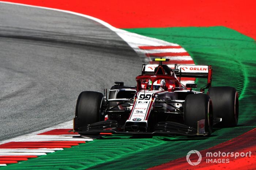
<path fill-rule="evenodd" d="M 219 127 L 233 127 L 238 122 L 238 92 L 233 87 L 211 87 L 208 95 L 212 100 L 214 118 L 222 118 Z"/>

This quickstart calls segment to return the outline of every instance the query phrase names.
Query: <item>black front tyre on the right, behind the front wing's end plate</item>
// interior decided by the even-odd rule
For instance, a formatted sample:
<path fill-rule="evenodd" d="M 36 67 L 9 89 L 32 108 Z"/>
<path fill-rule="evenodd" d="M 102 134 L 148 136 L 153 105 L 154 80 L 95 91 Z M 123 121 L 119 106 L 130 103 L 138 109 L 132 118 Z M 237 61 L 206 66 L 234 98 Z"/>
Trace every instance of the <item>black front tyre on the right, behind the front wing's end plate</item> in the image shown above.
<path fill-rule="evenodd" d="M 204 130 L 212 133 L 213 114 L 211 99 L 206 94 L 190 94 L 184 104 L 184 124 L 197 128 L 197 121 L 204 119 Z"/>

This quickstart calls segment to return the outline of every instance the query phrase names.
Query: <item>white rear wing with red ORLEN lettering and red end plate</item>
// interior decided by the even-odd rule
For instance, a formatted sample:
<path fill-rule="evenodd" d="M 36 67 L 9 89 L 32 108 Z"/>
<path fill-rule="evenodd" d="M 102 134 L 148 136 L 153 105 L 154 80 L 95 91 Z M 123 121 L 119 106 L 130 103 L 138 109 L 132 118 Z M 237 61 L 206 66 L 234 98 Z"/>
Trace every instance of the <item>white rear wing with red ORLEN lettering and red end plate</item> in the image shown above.
<path fill-rule="evenodd" d="M 154 70 L 158 64 L 143 64 L 142 74 L 155 74 Z M 212 79 L 212 67 L 211 66 L 199 66 L 199 65 L 177 65 L 167 64 L 167 66 L 178 77 L 189 78 L 207 78 L 207 85 L 205 88 L 211 87 Z"/>

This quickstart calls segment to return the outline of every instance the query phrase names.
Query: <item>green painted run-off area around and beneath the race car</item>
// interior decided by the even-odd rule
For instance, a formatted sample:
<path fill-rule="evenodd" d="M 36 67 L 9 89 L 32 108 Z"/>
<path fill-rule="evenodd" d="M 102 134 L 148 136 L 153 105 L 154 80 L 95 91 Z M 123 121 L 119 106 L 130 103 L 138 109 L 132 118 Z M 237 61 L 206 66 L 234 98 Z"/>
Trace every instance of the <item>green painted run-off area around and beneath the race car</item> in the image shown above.
<path fill-rule="evenodd" d="M 213 66 L 213 86 L 233 86 L 240 93 L 236 128 L 215 129 L 210 138 L 132 138 L 114 135 L 29 159 L 2 169 L 146 169 L 237 137 L 256 127 L 256 44 L 225 27 L 127 29 L 184 47 L 196 64 Z M 197 80 L 199 87 L 205 81 Z"/>

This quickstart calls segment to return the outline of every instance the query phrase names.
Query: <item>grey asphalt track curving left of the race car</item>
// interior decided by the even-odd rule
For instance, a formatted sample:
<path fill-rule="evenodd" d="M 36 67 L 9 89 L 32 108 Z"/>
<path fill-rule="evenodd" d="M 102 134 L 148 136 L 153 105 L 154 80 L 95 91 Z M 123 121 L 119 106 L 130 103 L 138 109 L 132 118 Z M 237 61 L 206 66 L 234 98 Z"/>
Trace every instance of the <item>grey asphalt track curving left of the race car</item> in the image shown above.
<path fill-rule="evenodd" d="M 0 3 L 0 141 L 71 120 L 81 91 L 135 85 L 141 64 L 93 20 Z"/>

